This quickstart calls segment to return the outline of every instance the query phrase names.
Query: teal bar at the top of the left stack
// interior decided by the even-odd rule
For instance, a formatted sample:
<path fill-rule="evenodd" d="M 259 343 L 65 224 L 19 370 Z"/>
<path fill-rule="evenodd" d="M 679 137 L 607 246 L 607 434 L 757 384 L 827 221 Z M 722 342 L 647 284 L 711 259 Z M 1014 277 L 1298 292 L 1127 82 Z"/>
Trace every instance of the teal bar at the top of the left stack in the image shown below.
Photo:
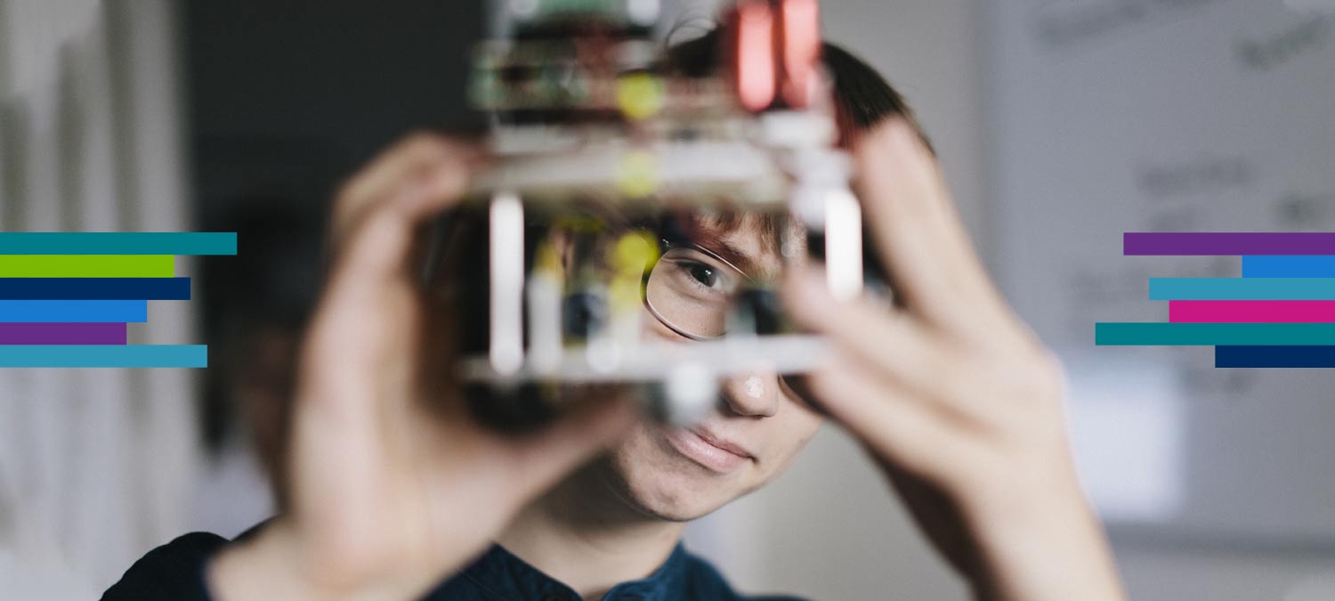
<path fill-rule="evenodd" d="M 0 255 L 235 255 L 236 232 L 7 231 Z"/>

